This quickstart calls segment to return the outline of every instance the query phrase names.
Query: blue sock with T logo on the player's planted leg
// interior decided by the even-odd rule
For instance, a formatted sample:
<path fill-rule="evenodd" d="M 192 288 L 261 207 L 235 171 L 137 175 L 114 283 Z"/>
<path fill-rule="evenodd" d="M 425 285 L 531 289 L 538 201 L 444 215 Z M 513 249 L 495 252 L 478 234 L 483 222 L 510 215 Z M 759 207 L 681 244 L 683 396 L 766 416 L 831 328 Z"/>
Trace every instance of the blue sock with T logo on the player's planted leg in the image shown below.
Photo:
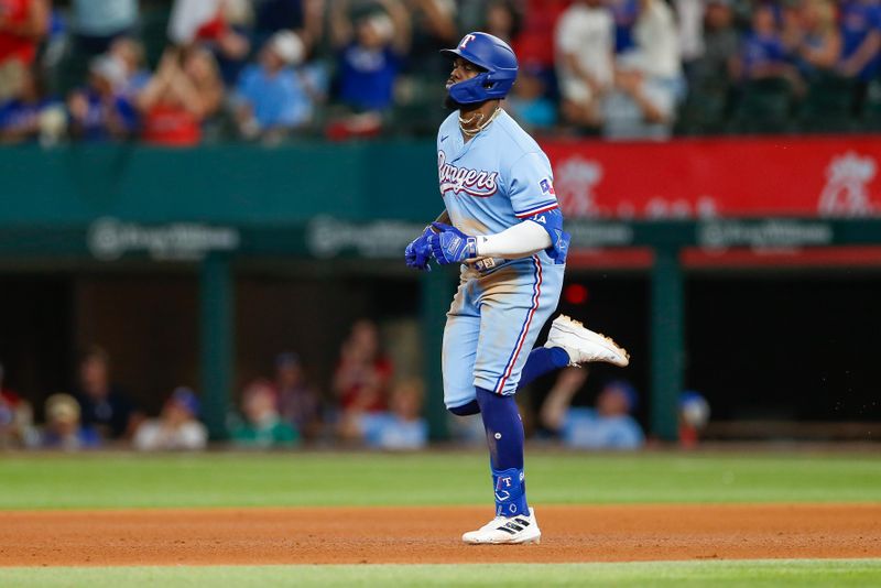
<path fill-rule="evenodd" d="M 496 514 L 529 516 L 523 476 L 523 422 L 514 396 L 502 396 L 478 388 L 477 403 L 489 443 Z"/>

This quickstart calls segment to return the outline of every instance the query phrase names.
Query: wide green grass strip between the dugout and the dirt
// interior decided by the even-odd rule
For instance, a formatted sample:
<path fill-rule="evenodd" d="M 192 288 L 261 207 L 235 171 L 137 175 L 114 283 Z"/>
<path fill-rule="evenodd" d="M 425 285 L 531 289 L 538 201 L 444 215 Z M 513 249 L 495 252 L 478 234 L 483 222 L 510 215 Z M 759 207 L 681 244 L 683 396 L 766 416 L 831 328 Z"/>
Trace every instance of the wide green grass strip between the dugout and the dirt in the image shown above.
<path fill-rule="evenodd" d="M 877 502 L 881 455 L 536 453 L 545 504 Z M 485 504 L 482 453 L 0 457 L 0 510 Z"/>

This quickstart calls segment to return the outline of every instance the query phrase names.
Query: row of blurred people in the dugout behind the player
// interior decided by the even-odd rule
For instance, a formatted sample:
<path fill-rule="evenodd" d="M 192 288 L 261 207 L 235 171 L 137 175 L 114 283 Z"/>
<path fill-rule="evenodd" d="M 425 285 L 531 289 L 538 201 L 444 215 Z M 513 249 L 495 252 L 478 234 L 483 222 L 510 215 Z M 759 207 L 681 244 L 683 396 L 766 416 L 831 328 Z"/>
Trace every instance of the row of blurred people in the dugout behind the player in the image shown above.
<path fill-rule="evenodd" d="M 624 380 L 600 379 L 592 391 L 585 385 L 588 374 L 588 369 L 563 370 L 547 394 L 535 399 L 541 401 L 536 406 L 529 391 L 518 395 L 527 436 L 535 443 L 576 449 L 643 447 L 645 437 L 633 416 L 639 405 L 637 390 Z M 48 391 L 45 398 L 17 393 L 4 375 L 0 364 L 0 450 L 194 451 L 208 447 L 204 399 L 197 391 L 187 385 L 170 393 L 157 391 L 162 402 L 149 414 L 116 381 L 111 357 L 101 347 L 91 346 L 81 353 L 67 390 Z M 274 358 L 270 373 L 243 375 L 227 414 L 225 446 L 413 450 L 428 444 L 423 382 L 395 369 L 372 320 L 351 326 L 340 342 L 336 367 L 322 385 L 291 351 Z M 148 399 L 140 400 L 146 403 Z M 587 401 L 595 405 L 588 406 Z M 479 416 L 447 416 L 454 443 L 485 443 Z M 696 435 L 689 438 L 696 440 Z"/>

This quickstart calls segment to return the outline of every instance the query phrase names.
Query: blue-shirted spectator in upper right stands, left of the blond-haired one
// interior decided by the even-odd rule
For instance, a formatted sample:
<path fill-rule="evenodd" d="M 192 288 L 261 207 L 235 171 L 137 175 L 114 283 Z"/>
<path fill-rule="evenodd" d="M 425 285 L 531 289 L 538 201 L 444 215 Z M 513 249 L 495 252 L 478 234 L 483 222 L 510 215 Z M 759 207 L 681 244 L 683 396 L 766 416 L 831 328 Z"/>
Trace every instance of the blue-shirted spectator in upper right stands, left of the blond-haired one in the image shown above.
<path fill-rule="evenodd" d="M 737 77 L 781 77 L 788 70 L 786 48 L 773 7 L 760 4 L 752 13 L 752 28 L 743 37 L 736 65 Z"/>

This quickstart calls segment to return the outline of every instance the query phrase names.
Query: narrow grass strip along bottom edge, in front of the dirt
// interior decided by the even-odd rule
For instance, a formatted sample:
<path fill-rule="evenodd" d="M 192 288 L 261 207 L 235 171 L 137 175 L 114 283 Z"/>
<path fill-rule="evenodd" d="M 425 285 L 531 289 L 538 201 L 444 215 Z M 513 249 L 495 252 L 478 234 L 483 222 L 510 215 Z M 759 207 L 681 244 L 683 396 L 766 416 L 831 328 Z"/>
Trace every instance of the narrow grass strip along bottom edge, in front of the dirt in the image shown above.
<path fill-rule="evenodd" d="M 758 560 L 632 564 L 0 568 L 3 586 L 624 586 L 632 588 L 878 586 L 881 562 Z"/>

